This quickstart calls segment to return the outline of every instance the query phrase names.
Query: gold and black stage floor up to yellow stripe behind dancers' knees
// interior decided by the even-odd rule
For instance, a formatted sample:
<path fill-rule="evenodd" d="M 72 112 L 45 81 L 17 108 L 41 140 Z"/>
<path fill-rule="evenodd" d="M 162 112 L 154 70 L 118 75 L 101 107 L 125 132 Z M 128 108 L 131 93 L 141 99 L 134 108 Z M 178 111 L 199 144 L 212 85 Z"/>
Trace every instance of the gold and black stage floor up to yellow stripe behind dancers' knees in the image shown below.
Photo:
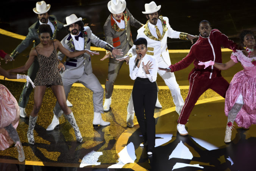
<path fill-rule="evenodd" d="M 19 98 L 22 82 L 0 80 L 0 83 Z M 186 87 L 181 89 L 183 98 L 187 91 Z M 256 126 L 248 130 L 235 126 L 231 143 L 224 143 L 225 100 L 214 91 L 208 90 L 200 97 L 186 124 L 189 135 L 180 136 L 176 131 L 178 114 L 170 91 L 159 90 L 163 108 L 155 109 L 156 147 L 151 157 L 147 156 L 146 149 L 139 147 L 142 139 L 136 117 L 135 126 L 126 127 L 130 93 L 130 86 L 115 88 L 111 110 L 102 114 L 111 125 L 94 129 L 92 92 L 83 86 L 73 86 L 68 99 L 73 104 L 72 111 L 83 136 L 83 142 L 77 143 L 73 128 L 63 116 L 58 128 L 45 130 L 51 123 L 56 101 L 48 88 L 34 129 L 36 143 L 28 144 L 28 119 L 21 118 L 17 131 L 25 151 L 25 162 L 17 160 L 17 150 L 12 145 L 0 151 L 2 168 L 7 165 L 18 170 L 253 170 Z M 31 98 L 26 112 L 29 114 L 32 108 Z"/>

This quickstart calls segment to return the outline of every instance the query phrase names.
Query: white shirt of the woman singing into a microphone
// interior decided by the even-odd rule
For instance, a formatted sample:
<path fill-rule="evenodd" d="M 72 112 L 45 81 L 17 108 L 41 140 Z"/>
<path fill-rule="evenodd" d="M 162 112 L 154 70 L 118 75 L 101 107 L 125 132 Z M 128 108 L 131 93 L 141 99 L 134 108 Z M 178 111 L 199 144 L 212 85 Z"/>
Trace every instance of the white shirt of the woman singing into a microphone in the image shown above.
<path fill-rule="evenodd" d="M 150 80 L 150 82 L 155 82 L 156 77 L 157 77 L 157 71 L 158 71 L 158 62 L 157 62 L 157 60 L 153 56 L 146 54 L 142 58 L 142 60 L 140 62 L 140 66 L 138 68 L 137 66 L 135 66 L 136 57 L 137 57 L 137 55 L 134 55 L 129 60 L 129 69 L 130 69 L 131 79 L 135 80 L 137 77 L 140 77 L 140 78 L 148 78 Z M 146 72 L 143 68 L 142 62 L 144 62 L 144 65 L 146 65 L 148 63 L 148 61 L 152 62 L 151 64 L 153 64 L 153 65 L 151 66 L 151 68 L 153 68 L 153 69 L 149 69 L 148 70 L 149 74 L 146 74 Z"/>

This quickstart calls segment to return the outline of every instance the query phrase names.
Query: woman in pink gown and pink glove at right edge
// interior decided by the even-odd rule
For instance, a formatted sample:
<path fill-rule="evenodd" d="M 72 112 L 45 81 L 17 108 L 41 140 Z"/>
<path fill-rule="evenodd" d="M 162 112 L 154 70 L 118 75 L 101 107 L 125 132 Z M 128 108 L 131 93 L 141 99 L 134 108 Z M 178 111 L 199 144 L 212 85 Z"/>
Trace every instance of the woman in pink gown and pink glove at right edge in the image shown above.
<path fill-rule="evenodd" d="M 242 31 L 240 40 L 245 49 L 233 52 L 229 62 L 225 64 L 212 61 L 200 62 L 200 65 L 205 65 L 205 67 L 213 65 L 221 70 L 240 62 L 244 68 L 234 75 L 226 92 L 225 114 L 228 116 L 224 139 L 226 143 L 231 142 L 234 121 L 244 129 L 256 124 L 256 46 L 253 32 Z"/>

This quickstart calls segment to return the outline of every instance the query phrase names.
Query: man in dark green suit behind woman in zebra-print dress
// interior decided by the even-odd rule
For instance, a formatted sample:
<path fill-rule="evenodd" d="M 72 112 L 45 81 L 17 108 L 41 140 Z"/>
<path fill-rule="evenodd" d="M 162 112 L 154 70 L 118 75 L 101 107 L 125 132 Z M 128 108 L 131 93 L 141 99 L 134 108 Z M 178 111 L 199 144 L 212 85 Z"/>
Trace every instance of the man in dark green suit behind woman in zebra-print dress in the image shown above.
<path fill-rule="evenodd" d="M 28 28 L 28 35 L 17 47 L 16 49 L 11 53 L 11 57 L 15 58 L 19 53 L 24 51 L 33 41 L 34 41 L 34 47 L 37 46 L 40 43 L 40 39 L 38 37 L 38 28 L 41 24 L 48 24 L 50 25 L 52 29 L 52 39 L 56 39 L 56 32 L 57 30 L 61 29 L 63 27 L 63 24 L 57 21 L 56 17 L 54 15 L 49 15 L 48 11 L 50 9 L 51 5 L 47 4 L 44 1 L 37 2 L 36 8 L 33 8 L 33 11 L 37 14 L 37 22 L 35 22 L 30 28 Z M 31 78 L 32 81 L 34 81 L 36 77 L 36 73 L 39 68 L 39 63 L 37 60 L 34 60 L 33 64 L 28 69 L 28 75 Z M 26 86 L 26 83 L 23 87 L 22 93 L 20 95 L 19 99 L 19 107 L 20 107 L 20 117 L 25 118 L 27 117 L 27 114 L 25 112 L 25 108 L 28 104 L 29 96 L 32 91 L 32 86 L 29 85 Z"/>

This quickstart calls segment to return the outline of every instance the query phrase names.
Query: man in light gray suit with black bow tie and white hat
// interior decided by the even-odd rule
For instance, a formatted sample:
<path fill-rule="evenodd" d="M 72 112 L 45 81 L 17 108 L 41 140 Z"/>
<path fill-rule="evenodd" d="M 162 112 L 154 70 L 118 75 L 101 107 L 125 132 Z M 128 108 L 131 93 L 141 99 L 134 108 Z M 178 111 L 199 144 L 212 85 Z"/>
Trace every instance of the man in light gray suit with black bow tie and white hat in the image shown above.
<path fill-rule="evenodd" d="M 76 50 L 84 50 L 91 49 L 91 43 L 100 48 L 104 48 L 110 52 L 112 55 L 122 55 L 122 50 L 115 49 L 113 46 L 108 43 L 100 40 L 97 36 L 95 36 L 91 29 L 88 26 L 84 27 L 82 22 L 82 18 L 77 18 L 75 14 L 72 14 L 66 17 L 67 24 L 64 27 L 70 31 L 64 39 L 61 40 L 64 48 L 73 52 Z M 58 52 L 58 59 L 62 60 L 64 58 L 64 54 Z M 105 122 L 101 118 L 101 113 L 103 113 L 103 95 L 104 90 L 98 81 L 97 77 L 92 73 L 92 64 L 91 57 L 88 54 L 83 54 L 81 56 L 75 58 L 67 57 L 64 65 L 62 63 L 59 64 L 59 69 L 65 69 L 61 73 L 62 83 L 64 86 L 64 91 L 66 94 L 66 98 L 70 92 L 70 88 L 73 83 L 80 82 L 87 88 L 89 88 L 92 92 L 92 100 L 94 104 L 94 119 L 93 126 L 97 127 L 98 125 L 107 126 L 110 123 Z M 54 116 L 52 123 L 46 129 L 47 131 L 53 130 L 57 125 L 59 125 L 59 116 L 61 116 L 62 111 L 58 104 L 55 105 L 53 110 Z"/>

